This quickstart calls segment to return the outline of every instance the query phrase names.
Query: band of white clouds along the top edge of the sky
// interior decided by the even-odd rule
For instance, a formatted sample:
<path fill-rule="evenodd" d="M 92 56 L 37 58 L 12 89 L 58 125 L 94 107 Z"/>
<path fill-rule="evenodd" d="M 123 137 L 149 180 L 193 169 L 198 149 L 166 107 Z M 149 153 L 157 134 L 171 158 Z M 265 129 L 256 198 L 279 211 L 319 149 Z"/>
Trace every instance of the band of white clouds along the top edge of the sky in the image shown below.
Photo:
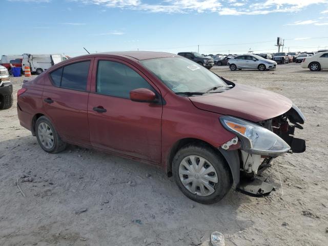
<path fill-rule="evenodd" d="M 152 13 L 217 12 L 220 15 L 257 15 L 277 12 L 297 12 L 328 0 L 71 0 L 108 8 L 132 9 Z M 323 11 L 325 12 L 325 11 Z"/>

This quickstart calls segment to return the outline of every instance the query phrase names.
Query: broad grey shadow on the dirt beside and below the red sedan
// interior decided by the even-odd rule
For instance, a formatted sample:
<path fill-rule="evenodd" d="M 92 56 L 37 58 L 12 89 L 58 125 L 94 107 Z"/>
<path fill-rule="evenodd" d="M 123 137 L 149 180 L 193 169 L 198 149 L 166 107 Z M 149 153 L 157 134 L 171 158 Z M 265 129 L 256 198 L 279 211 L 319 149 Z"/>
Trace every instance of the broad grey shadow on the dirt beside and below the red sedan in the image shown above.
<path fill-rule="evenodd" d="M 65 229 L 98 245 L 109 238 L 113 245 L 134 245 L 144 238 L 161 244 L 183 239 L 189 245 L 213 231 L 236 233 L 254 224 L 244 212 L 256 199 L 230 191 L 215 204 L 196 203 L 159 168 L 134 160 L 75 146 L 48 154 L 32 136 L 2 141 L 0 149 L 5 150 L 0 186 L 6 187 L 0 191 L 0 214 L 6 214 L 0 238 L 9 244 L 53 243 Z M 26 197 L 14 183 L 22 175 L 33 178 L 20 179 Z M 78 214 L 81 208 L 86 211 Z M 85 245 L 73 239 L 72 245 Z"/>

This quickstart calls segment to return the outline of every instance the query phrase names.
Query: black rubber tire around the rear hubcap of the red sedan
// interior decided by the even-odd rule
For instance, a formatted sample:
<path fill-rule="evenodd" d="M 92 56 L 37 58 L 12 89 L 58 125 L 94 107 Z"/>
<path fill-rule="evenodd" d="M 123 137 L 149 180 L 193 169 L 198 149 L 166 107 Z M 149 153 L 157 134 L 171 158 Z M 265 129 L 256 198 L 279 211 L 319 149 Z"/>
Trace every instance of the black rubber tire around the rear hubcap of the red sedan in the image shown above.
<path fill-rule="evenodd" d="M 53 147 L 48 149 L 46 148 L 40 138 L 39 138 L 39 134 L 38 134 L 38 127 L 41 123 L 45 122 L 51 129 L 52 133 L 53 133 Z M 46 117 L 46 116 L 41 116 L 39 117 L 36 122 L 35 122 L 35 133 L 36 133 L 36 138 L 37 138 L 37 141 L 40 145 L 40 147 L 48 152 L 48 153 L 58 153 L 58 152 L 61 152 L 63 150 L 65 150 L 66 148 L 66 142 L 64 142 L 63 140 L 61 140 L 59 134 L 57 133 L 56 129 L 54 128 L 52 122 Z"/>

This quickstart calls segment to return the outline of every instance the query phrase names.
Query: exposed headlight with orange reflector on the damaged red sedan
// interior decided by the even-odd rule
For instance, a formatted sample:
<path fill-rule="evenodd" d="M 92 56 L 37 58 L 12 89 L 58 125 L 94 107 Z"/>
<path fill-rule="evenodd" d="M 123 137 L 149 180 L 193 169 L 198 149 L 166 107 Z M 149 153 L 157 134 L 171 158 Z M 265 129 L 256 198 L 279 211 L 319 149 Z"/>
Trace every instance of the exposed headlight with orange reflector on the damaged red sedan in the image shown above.
<path fill-rule="evenodd" d="M 241 140 L 241 149 L 257 155 L 278 156 L 290 150 L 290 146 L 272 131 L 252 122 L 233 116 L 221 116 L 221 124 Z"/>

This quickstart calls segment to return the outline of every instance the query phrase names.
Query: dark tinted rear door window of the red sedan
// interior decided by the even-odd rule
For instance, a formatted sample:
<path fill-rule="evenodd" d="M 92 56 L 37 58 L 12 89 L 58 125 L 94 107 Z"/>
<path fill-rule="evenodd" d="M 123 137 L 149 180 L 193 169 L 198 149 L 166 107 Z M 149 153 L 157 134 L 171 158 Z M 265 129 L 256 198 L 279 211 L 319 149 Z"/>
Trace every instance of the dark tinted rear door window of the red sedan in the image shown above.
<path fill-rule="evenodd" d="M 53 84 L 57 87 L 85 91 L 87 89 L 90 61 L 81 61 L 61 67 L 52 73 Z"/>

